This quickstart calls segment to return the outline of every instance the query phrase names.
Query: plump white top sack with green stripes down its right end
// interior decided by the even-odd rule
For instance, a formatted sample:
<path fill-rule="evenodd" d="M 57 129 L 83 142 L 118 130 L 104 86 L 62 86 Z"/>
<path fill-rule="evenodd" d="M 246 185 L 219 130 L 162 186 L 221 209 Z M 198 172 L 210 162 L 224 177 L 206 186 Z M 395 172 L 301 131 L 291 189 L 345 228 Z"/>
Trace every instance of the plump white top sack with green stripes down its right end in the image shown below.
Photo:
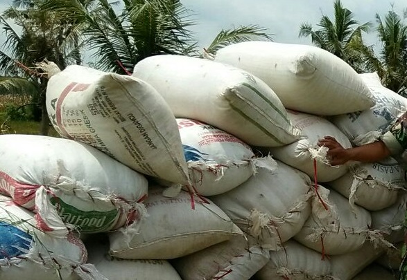
<path fill-rule="evenodd" d="M 274 91 L 239 68 L 155 55 L 138 62 L 132 75 L 154 86 L 177 118 L 211 124 L 251 145 L 282 146 L 298 139 Z"/>

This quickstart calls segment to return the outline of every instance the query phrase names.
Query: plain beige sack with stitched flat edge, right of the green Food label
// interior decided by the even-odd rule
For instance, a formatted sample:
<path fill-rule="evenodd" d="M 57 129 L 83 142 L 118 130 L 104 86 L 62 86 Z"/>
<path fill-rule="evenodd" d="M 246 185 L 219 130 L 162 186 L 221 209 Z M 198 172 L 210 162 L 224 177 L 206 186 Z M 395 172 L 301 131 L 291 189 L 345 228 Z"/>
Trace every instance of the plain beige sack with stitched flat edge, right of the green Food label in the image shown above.
<path fill-rule="evenodd" d="M 243 234 L 210 200 L 196 201 L 181 191 L 175 198 L 162 195 L 162 187 L 150 186 L 146 208 L 149 216 L 139 232 L 109 234 L 110 254 L 122 259 L 175 259 Z"/>

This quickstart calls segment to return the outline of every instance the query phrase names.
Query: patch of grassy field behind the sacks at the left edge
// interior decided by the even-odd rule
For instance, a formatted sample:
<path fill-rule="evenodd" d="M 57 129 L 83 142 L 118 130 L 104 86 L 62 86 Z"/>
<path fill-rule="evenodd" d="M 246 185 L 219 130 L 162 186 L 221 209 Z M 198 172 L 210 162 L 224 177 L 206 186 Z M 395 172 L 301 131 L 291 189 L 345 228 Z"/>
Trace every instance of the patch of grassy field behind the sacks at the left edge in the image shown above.
<path fill-rule="evenodd" d="M 14 95 L 0 95 L 0 134 L 33 134 L 40 135 L 40 122 L 9 120 L 6 115 L 6 106 L 10 104 L 21 105 L 28 103 L 27 97 Z M 59 137 L 58 132 L 51 126 L 48 136 Z"/>

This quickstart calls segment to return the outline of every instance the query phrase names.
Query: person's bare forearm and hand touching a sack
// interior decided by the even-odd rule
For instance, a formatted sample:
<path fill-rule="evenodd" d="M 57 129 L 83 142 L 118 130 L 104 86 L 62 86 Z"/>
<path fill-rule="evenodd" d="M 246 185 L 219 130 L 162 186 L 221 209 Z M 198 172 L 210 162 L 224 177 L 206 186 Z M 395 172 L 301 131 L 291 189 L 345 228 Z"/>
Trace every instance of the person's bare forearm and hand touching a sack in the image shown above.
<path fill-rule="evenodd" d="M 390 149 L 382 140 L 345 149 L 331 136 L 319 140 L 318 146 L 327 147 L 327 158 L 331 165 L 343 165 L 349 160 L 360 162 L 377 162 L 390 156 Z"/>

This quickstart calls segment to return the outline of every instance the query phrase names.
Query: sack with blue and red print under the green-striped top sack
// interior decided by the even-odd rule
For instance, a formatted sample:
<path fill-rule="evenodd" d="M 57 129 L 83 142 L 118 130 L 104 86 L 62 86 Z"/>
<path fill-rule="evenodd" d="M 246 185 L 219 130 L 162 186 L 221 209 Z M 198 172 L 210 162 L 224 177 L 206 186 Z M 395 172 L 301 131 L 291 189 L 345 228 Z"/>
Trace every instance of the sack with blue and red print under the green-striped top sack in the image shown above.
<path fill-rule="evenodd" d="M 269 157 L 255 158 L 248 144 L 221 129 L 184 118 L 177 123 L 189 178 L 202 196 L 223 194 L 248 180 L 258 166 L 274 164 Z"/>

